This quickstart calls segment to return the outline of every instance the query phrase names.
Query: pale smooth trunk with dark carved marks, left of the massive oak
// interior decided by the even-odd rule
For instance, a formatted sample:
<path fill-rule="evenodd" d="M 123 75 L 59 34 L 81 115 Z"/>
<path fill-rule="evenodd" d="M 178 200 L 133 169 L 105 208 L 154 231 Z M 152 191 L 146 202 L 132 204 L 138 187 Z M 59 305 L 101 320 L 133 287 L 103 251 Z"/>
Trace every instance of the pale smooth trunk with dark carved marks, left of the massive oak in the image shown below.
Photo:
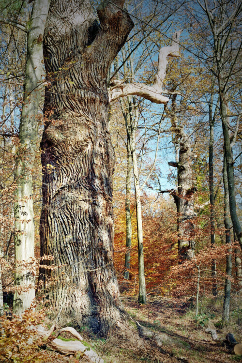
<path fill-rule="evenodd" d="M 27 39 L 24 99 L 19 126 L 20 147 L 16 158 L 15 182 L 15 287 L 14 312 L 28 309 L 35 297 L 34 215 L 32 167 L 37 148 L 36 119 L 43 87 L 42 40 L 50 0 L 35 0 Z"/>

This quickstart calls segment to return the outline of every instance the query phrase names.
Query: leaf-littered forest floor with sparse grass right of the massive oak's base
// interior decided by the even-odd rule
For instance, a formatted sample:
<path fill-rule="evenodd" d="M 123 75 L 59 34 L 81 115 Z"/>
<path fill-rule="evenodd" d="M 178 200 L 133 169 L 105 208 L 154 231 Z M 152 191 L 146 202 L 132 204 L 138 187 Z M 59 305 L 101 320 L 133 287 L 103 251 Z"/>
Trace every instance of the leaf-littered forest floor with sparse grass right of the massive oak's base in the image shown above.
<path fill-rule="evenodd" d="M 195 319 L 195 308 L 190 302 L 182 299 L 150 297 L 147 305 L 139 305 L 136 299 L 123 296 L 122 301 L 129 322 L 136 328 L 135 320 L 142 326 L 157 333 L 166 333 L 174 341 L 158 348 L 154 339 L 146 339 L 143 347 L 132 344 L 132 339 L 121 339 L 116 334 L 110 334 L 107 339 L 91 340 L 85 330 L 81 335 L 93 349 L 105 360 L 105 363 L 233 363 L 242 362 L 242 356 L 229 353 L 223 341 L 227 333 L 233 333 L 237 341 L 242 341 L 241 306 L 235 302 L 229 324 L 221 323 L 221 303 L 211 300 L 206 302 L 202 314 Z M 218 318 L 216 318 L 218 317 Z M 205 333 L 205 328 L 215 328 L 218 340 L 212 341 L 210 334 Z M 68 336 L 66 336 L 68 338 Z M 48 362 L 48 361 L 45 361 Z M 87 362 L 85 358 L 77 360 L 75 357 L 64 357 L 53 352 L 51 362 Z"/>

